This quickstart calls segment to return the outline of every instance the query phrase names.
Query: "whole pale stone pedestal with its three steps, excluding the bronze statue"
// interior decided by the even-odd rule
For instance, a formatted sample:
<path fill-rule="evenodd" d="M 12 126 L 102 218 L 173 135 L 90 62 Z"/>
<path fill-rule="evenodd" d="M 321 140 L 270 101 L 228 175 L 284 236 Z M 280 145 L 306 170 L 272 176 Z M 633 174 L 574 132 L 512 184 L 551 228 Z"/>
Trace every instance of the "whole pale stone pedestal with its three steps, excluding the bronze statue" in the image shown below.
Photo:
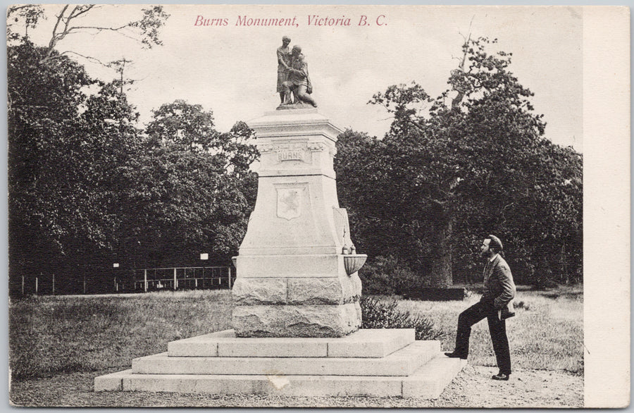
<path fill-rule="evenodd" d="M 261 159 L 234 257 L 233 328 L 170 342 L 95 378 L 95 391 L 435 398 L 466 363 L 414 329 L 359 330 L 366 256 L 337 201 L 341 130 L 301 99 L 282 106 L 248 122 Z"/>

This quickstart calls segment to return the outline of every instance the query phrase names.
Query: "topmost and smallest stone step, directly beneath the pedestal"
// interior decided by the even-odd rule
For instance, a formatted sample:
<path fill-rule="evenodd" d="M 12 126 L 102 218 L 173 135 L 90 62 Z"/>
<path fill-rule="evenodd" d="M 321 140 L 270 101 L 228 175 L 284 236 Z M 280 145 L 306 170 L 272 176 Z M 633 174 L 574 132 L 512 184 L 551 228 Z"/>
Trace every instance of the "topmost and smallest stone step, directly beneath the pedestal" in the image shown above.
<path fill-rule="evenodd" d="M 380 358 L 414 343 L 414 328 L 363 329 L 342 338 L 237 338 L 218 331 L 168 343 L 170 357 Z"/>

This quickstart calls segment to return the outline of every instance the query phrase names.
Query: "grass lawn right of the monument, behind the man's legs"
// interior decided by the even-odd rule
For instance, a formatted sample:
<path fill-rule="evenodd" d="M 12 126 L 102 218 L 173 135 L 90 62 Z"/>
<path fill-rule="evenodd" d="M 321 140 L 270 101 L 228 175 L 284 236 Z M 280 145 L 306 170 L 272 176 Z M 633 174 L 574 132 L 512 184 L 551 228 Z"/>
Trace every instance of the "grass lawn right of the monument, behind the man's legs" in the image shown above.
<path fill-rule="evenodd" d="M 480 295 L 463 301 L 403 300 L 399 307 L 423 314 L 446 333 L 442 349 L 454 350 L 458 315 L 478 302 Z M 516 316 L 506 321 L 514 368 L 563 370 L 583 375 L 583 294 L 581 288 L 518 291 Z M 469 363 L 496 366 L 487 321 L 473 326 Z"/>

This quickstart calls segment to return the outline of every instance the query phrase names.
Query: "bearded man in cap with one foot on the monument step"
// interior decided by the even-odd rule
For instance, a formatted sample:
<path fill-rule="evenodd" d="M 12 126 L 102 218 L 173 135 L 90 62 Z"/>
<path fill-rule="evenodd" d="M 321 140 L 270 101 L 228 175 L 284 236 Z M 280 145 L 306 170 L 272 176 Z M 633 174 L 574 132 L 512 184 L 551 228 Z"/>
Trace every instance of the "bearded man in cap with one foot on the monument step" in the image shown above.
<path fill-rule="evenodd" d="M 486 318 L 489 322 L 489 332 L 499 368 L 499 373 L 492 378 L 506 381 L 511 375 L 511 353 L 509 340 L 506 338 L 506 319 L 514 316 L 511 300 L 515 297 L 515 284 L 509 264 L 506 264 L 499 254 L 502 248 L 502 241 L 495 235 L 489 235 L 483 241 L 480 252 L 487 259 L 484 270 L 484 292 L 480 302 L 461 312 L 458 317 L 456 348 L 445 355 L 466 359 L 469 354 L 471 326 Z"/>

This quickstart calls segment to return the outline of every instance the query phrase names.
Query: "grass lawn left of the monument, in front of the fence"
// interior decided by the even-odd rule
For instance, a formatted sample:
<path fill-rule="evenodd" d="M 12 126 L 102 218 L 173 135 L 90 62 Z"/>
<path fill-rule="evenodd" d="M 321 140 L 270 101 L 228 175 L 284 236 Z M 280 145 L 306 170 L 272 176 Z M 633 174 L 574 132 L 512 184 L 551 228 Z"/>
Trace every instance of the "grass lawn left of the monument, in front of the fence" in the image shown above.
<path fill-rule="evenodd" d="M 231 328 L 228 290 L 40 296 L 9 304 L 15 379 L 129 368 L 179 338 Z"/>

